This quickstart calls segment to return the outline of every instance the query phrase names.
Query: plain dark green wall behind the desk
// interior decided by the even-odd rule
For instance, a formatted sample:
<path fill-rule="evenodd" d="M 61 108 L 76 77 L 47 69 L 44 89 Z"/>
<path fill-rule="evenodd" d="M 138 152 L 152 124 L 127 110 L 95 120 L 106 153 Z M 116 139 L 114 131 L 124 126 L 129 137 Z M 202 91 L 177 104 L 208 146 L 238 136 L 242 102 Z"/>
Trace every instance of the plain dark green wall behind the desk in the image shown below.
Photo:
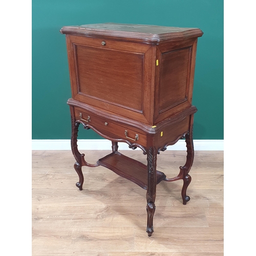
<path fill-rule="evenodd" d="M 223 139 L 223 0 L 33 0 L 32 139 L 69 139 L 71 97 L 63 26 L 94 23 L 200 28 L 194 139 Z M 92 130 L 81 139 L 100 139 Z"/>

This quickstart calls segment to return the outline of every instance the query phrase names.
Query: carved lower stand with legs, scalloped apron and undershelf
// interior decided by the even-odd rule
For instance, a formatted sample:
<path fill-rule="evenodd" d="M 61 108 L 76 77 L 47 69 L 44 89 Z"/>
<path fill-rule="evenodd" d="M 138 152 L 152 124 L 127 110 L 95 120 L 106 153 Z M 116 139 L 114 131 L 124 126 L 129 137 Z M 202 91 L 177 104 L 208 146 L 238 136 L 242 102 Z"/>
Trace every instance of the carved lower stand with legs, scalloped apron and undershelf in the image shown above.
<path fill-rule="evenodd" d="M 193 115 L 191 116 L 191 119 Z M 191 176 L 188 174 L 189 170 L 193 164 L 194 160 L 194 145 L 193 145 L 193 124 L 191 124 L 189 131 L 187 131 L 181 138 L 185 137 L 186 147 L 187 147 L 187 157 L 186 163 L 184 166 L 180 166 L 180 172 L 178 176 L 174 178 L 166 178 L 165 174 L 159 172 L 156 169 L 157 166 L 157 154 L 160 154 L 160 151 L 165 151 L 168 144 L 160 147 L 158 150 L 155 146 L 143 147 L 142 145 L 137 144 L 143 150 L 143 154 L 147 155 L 147 165 L 136 161 L 132 158 L 126 157 L 118 152 L 118 141 L 123 141 L 120 139 L 110 138 L 104 136 L 101 132 L 87 123 L 82 122 L 81 120 L 75 120 L 74 116 L 71 116 L 72 120 L 72 137 L 71 137 L 71 148 L 72 153 L 76 159 L 74 168 L 78 174 L 79 182 L 76 183 L 76 186 L 79 190 L 82 190 L 83 185 L 83 174 L 82 166 L 97 167 L 99 165 L 111 169 L 113 172 L 119 176 L 131 180 L 135 184 L 139 185 L 146 190 L 146 211 L 147 211 L 147 228 L 146 232 L 148 237 L 152 236 L 154 232 L 153 228 L 153 217 L 155 213 L 155 199 L 156 199 L 156 185 L 161 181 L 176 181 L 183 180 L 183 186 L 181 190 L 181 196 L 183 204 L 185 205 L 189 200 L 189 196 L 186 195 L 186 190 L 191 182 Z M 93 129 L 96 133 L 100 134 L 102 137 L 112 141 L 112 153 L 99 159 L 96 164 L 88 163 L 84 157 L 84 154 L 80 154 L 77 147 L 77 135 L 78 127 L 82 125 L 84 129 L 89 130 Z M 180 138 L 180 139 L 181 139 Z M 125 142 L 125 141 L 124 141 Z M 136 146 L 129 143 L 129 147 L 135 149 Z"/>

